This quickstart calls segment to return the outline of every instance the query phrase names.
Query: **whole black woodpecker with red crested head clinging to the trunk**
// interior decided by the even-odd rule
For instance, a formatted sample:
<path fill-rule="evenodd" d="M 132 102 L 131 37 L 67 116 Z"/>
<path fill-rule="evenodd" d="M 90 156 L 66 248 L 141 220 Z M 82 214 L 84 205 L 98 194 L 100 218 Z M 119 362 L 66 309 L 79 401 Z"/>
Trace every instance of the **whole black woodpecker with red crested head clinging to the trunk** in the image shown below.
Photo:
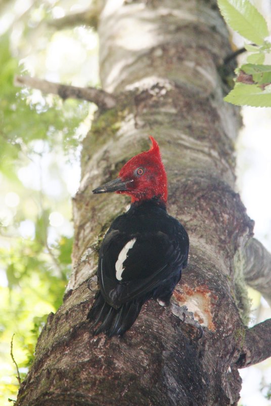
<path fill-rule="evenodd" d="M 123 335 L 149 299 L 167 305 L 187 266 L 189 237 L 166 212 L 166 171 L 159 146 L 150 139 L 150 150 L 128 160 L 117 179 L 93 190 L 131 197 L 130 209 L 113 221 L 101 245 L 100 291 L 87 315 L 94 335 Z"/>

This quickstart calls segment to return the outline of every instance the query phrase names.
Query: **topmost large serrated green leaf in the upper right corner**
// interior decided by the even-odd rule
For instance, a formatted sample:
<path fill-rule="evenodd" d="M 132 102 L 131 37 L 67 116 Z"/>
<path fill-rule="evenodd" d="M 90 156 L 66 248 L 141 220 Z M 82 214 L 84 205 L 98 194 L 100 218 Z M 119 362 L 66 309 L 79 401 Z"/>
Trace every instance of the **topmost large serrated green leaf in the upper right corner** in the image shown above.
<path fill-rule="evenodd" d="M 251 42 L 262 45 L 268 36 L 267 23 L 249 0 L 218 0 L 225 21 Z"/>

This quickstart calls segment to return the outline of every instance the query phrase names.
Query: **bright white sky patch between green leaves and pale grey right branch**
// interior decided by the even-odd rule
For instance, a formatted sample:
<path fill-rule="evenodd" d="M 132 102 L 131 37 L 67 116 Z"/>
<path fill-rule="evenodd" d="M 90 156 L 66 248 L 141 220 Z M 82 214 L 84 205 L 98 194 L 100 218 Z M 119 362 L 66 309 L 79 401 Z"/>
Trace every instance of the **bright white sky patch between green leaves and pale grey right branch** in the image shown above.
<path fill-rule="evenodd" d="M 257 238 L 271 252 L 271 108 L 243 108 L 238 187 Z"/>

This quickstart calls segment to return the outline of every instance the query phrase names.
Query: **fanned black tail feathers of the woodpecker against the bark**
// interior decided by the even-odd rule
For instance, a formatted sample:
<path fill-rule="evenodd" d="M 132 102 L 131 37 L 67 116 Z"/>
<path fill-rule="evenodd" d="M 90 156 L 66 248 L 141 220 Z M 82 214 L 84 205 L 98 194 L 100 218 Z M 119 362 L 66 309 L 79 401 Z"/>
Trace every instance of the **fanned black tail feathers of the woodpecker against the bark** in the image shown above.
<path fill-rule="evenodd" d="M 94 335 L 105 333 L 109 337 L 122 336 L 137 319 L 142 305 L 143 301 L 132 300 L 124 303 L 116 310 L 105 302 L 99 292 L 87 315 L 89 321 L 92 322 L 92 330 L 101 322 L 100 326 L 94 331 Z"/>

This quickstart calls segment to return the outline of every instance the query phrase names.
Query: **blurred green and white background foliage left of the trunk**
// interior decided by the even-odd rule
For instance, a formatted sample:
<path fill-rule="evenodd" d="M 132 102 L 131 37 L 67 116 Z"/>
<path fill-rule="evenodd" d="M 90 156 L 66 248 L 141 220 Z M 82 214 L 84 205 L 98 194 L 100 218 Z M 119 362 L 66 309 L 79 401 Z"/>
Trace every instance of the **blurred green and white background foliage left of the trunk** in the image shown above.
<path fill-rule="evenodd" d="M 78 1 L 83 6 L 87 3 Z M 93 105 L 84 101 L 63 102 L 36 90 L 16 88 L 14 76 L 30 74 L 30 70 L 31 75 L 43 78 L 51 74 L 62 83 L 69 78 L 77 86 L 97 84 L 96 68 L 89 69 L 89 61 L 94 66 L 97 59 L 93 33 L 83 27 L 58 32 L 46 23 L 74 5 L 70 0 L 37 0 L 27 4 L 17 0 L 15 7 L 15 1 L 10 0 L 0 6 L 0 31 L 8 22 L 0 35 L 0 404 L 3 406 L 11 404 L 8 399 L 16 399 L 19 388 L 10 354 L 13 334 L 13 356 L 24 379 L 48 314 L 56 312 L 62 303 L 71 272 L 70 197 L 79 181 L 80 142 L 89 129 L 94 110 Z M 68 44 L 66 49 L 63 44 Z M 55 47 L 51 71 L 47 66 L 52 55 L 50 47 Z M 91 74 L 82 78 L 85 71 L 79 71 L 78 64 Z"/>

